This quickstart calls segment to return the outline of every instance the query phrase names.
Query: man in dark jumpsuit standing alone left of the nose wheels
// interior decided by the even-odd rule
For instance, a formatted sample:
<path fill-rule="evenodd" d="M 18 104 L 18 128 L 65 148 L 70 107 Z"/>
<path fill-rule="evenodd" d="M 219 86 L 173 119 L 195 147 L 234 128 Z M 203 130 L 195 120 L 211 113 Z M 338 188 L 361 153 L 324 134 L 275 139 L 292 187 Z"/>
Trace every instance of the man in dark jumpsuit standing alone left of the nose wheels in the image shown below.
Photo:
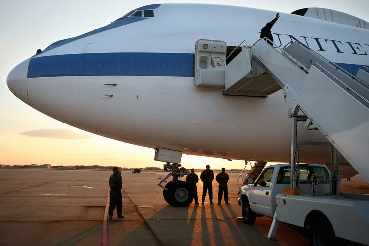
<path fill-rule="evenodd" d="M 112 219 L 113 211 L 117 205 L 117 217 L 122 216 L 122 176 L 118 167 L 113 167 L 113 174 L 109 178 L 110 187 L 110 203 L 109 203 L 109 220 Z"/>

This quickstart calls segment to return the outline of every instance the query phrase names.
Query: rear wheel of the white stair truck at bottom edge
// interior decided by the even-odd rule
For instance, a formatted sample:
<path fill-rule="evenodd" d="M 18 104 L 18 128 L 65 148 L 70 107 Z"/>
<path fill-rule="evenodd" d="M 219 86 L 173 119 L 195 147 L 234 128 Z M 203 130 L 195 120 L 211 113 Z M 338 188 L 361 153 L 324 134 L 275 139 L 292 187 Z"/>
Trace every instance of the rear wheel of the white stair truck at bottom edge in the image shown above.
<path fill-rule="evenodd" d="M 334 232 L 331 223 L 328 221 L 319 221 L 319 223 L 315 222 L 312 226 L 310 226 L 309 236 L 311 246 L 332 245 Z"/>

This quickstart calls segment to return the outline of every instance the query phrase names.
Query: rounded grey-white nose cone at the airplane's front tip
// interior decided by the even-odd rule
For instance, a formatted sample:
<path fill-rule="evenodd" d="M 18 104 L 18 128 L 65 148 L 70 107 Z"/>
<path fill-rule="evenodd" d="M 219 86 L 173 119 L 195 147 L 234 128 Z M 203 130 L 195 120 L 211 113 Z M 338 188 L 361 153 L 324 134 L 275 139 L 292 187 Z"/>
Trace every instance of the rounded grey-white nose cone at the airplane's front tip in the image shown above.
<path fill-rule="evenodd" d="M 10 91 L 26 104 L 29 104 L 27 93 L 27 74 L 30 60 L 31 58 L 28 58 L 15 66 L 10 71 L 6 79 L 6 84 Z"/>

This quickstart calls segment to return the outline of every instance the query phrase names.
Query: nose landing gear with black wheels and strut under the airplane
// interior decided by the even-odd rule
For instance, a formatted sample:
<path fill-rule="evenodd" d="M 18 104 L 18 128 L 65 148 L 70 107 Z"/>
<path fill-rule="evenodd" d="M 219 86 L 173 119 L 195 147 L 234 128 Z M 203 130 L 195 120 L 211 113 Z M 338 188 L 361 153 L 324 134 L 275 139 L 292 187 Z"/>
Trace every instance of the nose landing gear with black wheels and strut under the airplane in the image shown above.
<path fill-rule="evenodd" d="M 186 182 L 178 179 L 189 175 L 190 172 L 184 167 L 179 168 L 180 164 L 170 164 L 169 162 L 167 164 L 172 172 L 168 173 L 157 185 L 164 189 L 163 196 L 167 203 L 174 207 L 187 207 L 192 203 L 193 192 Z M 168 182 L 165 187 L 162 186 L 161 183 L 166 182 L 165 180 L 170 176 L 173 176 L 173 180 Z"/>

